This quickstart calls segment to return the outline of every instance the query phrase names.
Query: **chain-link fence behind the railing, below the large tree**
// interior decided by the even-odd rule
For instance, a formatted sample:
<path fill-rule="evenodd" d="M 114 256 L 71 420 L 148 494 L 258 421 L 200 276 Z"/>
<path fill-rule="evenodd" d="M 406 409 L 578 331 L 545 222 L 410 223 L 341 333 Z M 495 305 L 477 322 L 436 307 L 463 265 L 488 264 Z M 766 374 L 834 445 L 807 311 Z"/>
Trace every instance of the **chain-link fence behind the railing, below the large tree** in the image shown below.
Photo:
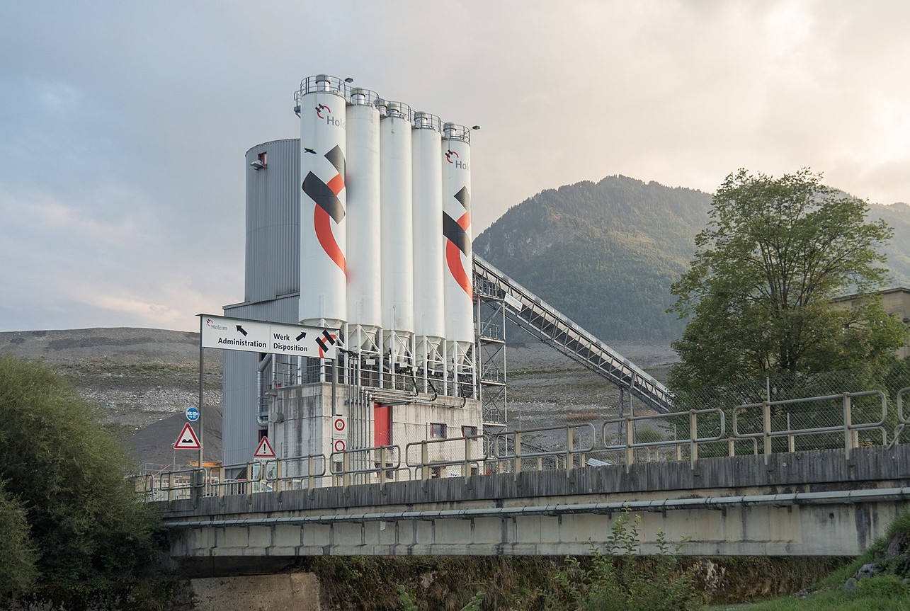
<path fill-rule="evenodd" d="M 910 363 L 679 392 L 671 414 L 607 420 L 592 456 L 611 464 L 906 443 Z M 910 410 L 908 410 L 910 412 Z"/>

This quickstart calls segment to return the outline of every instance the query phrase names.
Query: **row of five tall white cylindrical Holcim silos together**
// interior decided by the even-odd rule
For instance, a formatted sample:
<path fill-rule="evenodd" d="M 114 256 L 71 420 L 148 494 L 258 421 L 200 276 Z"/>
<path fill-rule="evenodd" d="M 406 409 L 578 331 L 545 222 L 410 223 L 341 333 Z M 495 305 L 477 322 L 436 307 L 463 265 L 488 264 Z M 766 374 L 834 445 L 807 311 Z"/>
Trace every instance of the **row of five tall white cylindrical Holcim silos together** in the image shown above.
<path fill-rule="evenodd" d="M 328 75 L 296 97 L 300 323 L 424 385 L 473 375 L 470 129 Z"/>

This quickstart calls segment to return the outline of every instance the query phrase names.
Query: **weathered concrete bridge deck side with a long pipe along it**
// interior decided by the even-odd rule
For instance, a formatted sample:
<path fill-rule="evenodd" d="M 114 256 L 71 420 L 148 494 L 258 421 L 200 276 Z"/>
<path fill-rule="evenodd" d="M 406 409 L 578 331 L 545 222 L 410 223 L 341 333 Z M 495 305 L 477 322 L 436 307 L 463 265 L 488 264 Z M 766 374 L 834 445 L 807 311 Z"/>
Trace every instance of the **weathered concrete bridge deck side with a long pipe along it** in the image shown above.
<path fill-rule="evenodd" d="M 158 503 L 197 565 L 314 555 L 584 555 L 624 508 L 641 551 L 857 556 L 910 499 L 910 446 L 449 477 Z"/>

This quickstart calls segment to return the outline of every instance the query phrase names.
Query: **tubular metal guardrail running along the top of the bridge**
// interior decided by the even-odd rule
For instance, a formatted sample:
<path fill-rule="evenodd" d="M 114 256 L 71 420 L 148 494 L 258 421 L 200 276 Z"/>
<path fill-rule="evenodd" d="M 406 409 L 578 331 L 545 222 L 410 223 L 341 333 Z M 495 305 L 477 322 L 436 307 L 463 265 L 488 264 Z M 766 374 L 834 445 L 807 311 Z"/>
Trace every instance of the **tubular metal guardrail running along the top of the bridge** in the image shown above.
<path fill-rule="evenodd" d="M 487 446 L 480 443 L 483 436 L 428 439 L 404 446 L 403 454 L 400 446 L 378 446 L 335 452 L 328 458 L 324 455 L 292 456 L 262 463 L 180 469 L 131 478 L 141 499 L 172 501 L 300 488 L 312 491 L 320 486 L 350 486 L 374 481 L 381 484 L 403 479 L 420 481 L 442 476 L 442 469 L 450 466 L 459 466 L 460 475 L 467 478 L 466 481 L 470 481 L 471 476 L 492 473 L 511 472 L 518 477 L 529 466 L 535 470 L 565 469 L 567 476 L 582 466 L 616 463 L 624 464 L 628 471 L 635 463 L 642 462 L 642 454 L 646 461 L 652 462 L 655 458 L 652 451 L 657 451 L 657 460 L 688 460 L 694 469 L 703 457 L 704 449 L 715 446 L 722 447 L 710 452 L 711 456 L 764 456 L 765 462 L 774 453 L 841 447 L 849 459 L 857 447 L 873 444 L 879 435 L 883 446 L 899 443 L 901 434 L 910 425 L 910 417 L 904 413 L 904 399 L 908 394 L 910 386 L 897 393 L 897 418 L 890 443 L 886 424 L 887 396 L 871 390 L 744 404 L 733 407 L 730 412 L 710 408 L 611 418 L 603 422 L 600 438 L 592 424 L 580 423 L 503 431 L 490 436 Z M 825 407 L 833 403 L 840 409 Z M 801 407 L 807 412 L 807 406 L 822 406 L 824 414 L 838 416 L 840 420 L 836 424 L 814 426 L 817 423 L 809 418 L 807 426 L 794 426 L 790 414 L 784 410 Z M 758 416 L 752 416 L 756 413 Z M 792 413 L 794 416 L 801 414 L 799 409 Z M 729 416 L 733 418 L 733 425 L 728 434 L 725 423 Z M 806 421 L 805 418 L 794 420 Z M 672 438 L 656 434 L 658 429 L 664 432 L 672 429 Z M 646 430 L 649 431 L 647 435 Z M 535 437 L 534 445 L 527 443 L 524 436 Z M 551 439 L 558 436 L 560 440 L 543 447 L 539 441 L 543 436 Z M 786 442 L 775 444 L 777 439 Z M 661 453 L 662 449 L 670 452 Z M 616 456 L 617 459 L 609 462 L 594 456 Z"/>

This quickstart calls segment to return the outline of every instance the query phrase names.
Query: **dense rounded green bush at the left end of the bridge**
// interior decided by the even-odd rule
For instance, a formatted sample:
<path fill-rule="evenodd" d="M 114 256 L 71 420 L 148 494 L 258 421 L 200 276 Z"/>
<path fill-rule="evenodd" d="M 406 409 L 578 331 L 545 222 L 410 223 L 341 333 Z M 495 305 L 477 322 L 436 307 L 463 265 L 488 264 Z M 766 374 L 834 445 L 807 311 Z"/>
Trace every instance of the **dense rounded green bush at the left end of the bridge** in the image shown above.
<path fill-rule="evenodd" d="M 158 520 L 136 502 L 127 466 L 63 377 L 40 361 L 0 356 L 0 481 L 25 511 L 37 596 L 67 607 L 111 600 L 153 566 Z"/>

